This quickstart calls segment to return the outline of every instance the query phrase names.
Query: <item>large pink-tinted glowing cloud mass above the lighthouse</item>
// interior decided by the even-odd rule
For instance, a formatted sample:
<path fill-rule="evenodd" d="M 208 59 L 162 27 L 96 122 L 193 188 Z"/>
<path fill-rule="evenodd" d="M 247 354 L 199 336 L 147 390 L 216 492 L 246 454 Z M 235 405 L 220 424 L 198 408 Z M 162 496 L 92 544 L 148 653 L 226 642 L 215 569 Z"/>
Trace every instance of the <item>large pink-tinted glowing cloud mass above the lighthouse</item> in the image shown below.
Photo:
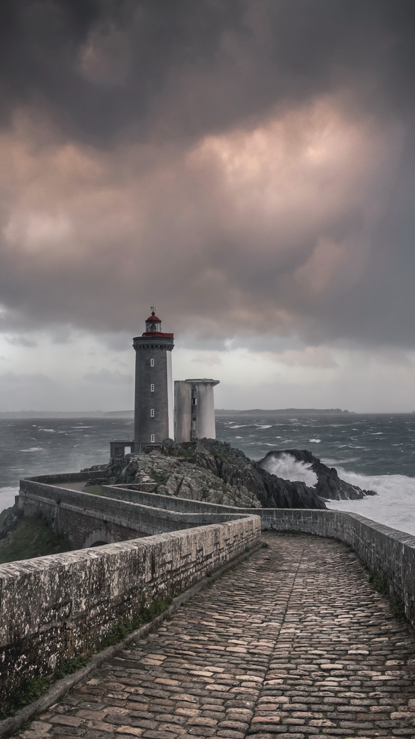
<path fill-rule="evenodd" d="M 7 321 L 199 336 L 307 333 L 365 279 L 402 129 L 349 93 L 191 143 L 62 140 L 33 110 L 0 137 Z"/>

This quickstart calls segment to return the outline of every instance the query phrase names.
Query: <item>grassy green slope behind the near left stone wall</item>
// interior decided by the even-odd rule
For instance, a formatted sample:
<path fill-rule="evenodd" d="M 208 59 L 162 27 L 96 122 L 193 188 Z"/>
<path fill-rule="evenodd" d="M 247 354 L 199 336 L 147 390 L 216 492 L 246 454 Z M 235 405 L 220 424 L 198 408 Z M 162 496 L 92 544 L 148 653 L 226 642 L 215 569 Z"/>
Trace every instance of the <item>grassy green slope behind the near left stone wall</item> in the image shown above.
<path fill-rule="evenodd" d="M 69 546 L 64 539 L 54 534 L 44 518 L 25 516 L 21 518 L 13 531 L 1 539 L 0 565 L 67 551 L 70 551 Z"/>

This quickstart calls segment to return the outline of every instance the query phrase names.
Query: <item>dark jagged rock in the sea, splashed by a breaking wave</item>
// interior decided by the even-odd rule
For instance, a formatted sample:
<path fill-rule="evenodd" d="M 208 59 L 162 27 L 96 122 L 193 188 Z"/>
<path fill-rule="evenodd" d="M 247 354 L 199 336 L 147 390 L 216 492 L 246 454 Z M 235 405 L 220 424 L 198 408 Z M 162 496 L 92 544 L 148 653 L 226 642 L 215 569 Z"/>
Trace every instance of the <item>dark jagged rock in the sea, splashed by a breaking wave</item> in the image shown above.
<path fill-rule="evenodd" d="M 340 480 L 335 467 L 327 467 L 320 462 L 318 457 L 314 457 L 311 452 L 300 449 L 282 449 L 280 451 L 268 452 L 263 459 L 258 462 L 258 466 L 269 469 L 270 462 L 274 459 L 289 454 L 297 462 L 303 462 L 309 465 L 309 469 L 317 475 L 318 482 L 314 488 L 317 494 L 326 500 L 360 500 L 366 495 L 376 495 L 373 490 L 362 490 L 357 485 L 351 485 L 344 480 Z"/>

